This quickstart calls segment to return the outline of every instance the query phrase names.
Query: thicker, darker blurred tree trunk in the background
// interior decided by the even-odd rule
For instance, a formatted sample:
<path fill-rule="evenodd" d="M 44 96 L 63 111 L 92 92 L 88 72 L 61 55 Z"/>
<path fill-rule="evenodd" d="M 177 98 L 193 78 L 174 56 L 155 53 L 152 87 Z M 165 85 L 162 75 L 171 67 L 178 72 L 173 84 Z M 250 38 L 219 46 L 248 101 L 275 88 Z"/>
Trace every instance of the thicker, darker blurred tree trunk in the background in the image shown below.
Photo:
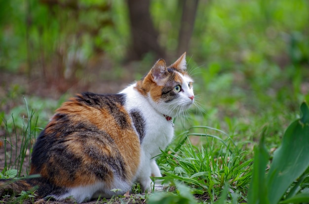
<path fill-rule="evenodd" d="M 128 60 L 140 60 L 148 52 L 164 58 L 165 52 L 158 43 L 158 33 L 150 16 L 150 0 L 127 0 L 131 24 L 131 47 Z"/>

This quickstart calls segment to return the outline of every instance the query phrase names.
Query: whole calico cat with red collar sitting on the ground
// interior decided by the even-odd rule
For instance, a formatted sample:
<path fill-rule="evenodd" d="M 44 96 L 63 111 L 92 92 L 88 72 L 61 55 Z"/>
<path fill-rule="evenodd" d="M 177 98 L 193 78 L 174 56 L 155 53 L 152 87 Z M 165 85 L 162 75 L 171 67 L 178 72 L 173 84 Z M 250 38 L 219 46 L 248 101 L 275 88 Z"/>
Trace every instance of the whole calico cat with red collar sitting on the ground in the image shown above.
<path fill-rule="evenodd" d="M 32 152 L 30 174 L 38 178 L 5 184 L 14 192 L 37 186 L 40 198 L 78 203 L 128 191 L 133 182 L 144 190 L 161 177 L 153 159 L 171 142 L 172 118 L 194 102 L 186 53 L 166 67 L 160 59 L 141 80 L 118 94 L 78 94 L 56 110 Z"/>

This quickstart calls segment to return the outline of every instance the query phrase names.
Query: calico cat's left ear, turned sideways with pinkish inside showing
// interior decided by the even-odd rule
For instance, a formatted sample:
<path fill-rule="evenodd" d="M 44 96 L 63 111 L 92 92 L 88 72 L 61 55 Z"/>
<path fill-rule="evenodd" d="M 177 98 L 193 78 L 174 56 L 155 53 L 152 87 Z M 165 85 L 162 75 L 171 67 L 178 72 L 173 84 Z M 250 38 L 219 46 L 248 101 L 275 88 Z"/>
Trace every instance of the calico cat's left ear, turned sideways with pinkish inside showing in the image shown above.
<path fill-rule="evenodd" d="M 158 60 L 154 64 L 154 67 L 151 69 L 151 74 L 153 76 L 154 82 L 157 85 L 164 85 L 167 76 L 167 68 L 165 61 L 162 59 Z"/>

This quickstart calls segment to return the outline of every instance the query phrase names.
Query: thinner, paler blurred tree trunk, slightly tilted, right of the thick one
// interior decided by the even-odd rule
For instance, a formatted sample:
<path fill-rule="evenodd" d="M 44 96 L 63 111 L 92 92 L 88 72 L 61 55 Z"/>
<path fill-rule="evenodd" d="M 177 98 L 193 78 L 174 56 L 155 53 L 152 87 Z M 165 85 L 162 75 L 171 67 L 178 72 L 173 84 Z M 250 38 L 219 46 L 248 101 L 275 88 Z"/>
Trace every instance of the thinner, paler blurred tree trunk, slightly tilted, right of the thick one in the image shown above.
<path fill-rule="evenodd" d="M 188 51 L 190 39 L 194 29 L 198 0 L 181 0 L 182 17 L 181 27 L 179 30 L 177 56 Z"/>

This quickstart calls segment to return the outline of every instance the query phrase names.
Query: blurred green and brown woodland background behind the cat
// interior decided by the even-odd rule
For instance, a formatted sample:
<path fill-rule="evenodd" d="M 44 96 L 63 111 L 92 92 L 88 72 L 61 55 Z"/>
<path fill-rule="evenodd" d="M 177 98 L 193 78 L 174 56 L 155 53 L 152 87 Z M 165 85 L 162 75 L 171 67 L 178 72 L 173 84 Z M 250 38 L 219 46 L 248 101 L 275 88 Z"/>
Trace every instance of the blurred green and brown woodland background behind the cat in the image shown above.
<path fill-rule="evenodd" d="M 206 111 L 188 126 L 280 137 L 309 100 L 308 22 L 308 0 L 1 0 L 1 114 L 22 95 L 63 96 L 54 110 L 65 93 L 117 92 L 187 51 Z"/>

